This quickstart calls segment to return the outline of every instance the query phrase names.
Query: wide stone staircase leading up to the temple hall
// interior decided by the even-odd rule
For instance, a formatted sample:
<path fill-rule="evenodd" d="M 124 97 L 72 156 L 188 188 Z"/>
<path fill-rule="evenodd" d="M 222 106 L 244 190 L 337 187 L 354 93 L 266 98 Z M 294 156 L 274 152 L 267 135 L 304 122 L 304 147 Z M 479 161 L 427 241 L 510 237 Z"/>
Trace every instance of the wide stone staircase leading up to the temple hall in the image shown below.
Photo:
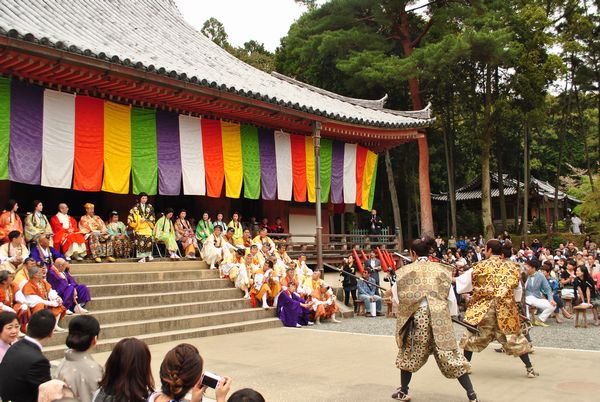
<path fill-rule="evenodd" d="M 125 337 L 154 344 L 281 326 L 274 309 L 250 307 L 229 280 L 207 268 L 198 261 L 73 264 L 72 275 L 92 295 L 86 308 L 102 328 L 96 352 Z M 55 333 L 44 347 L 50 360 L 63 356 L 65 339 Z"/>

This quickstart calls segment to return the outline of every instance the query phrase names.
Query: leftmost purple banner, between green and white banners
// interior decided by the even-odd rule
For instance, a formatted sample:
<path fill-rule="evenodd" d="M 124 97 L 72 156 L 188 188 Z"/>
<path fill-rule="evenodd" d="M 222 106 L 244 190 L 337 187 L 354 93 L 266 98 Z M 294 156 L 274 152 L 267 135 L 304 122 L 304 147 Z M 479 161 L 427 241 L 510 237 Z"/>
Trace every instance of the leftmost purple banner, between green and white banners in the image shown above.
<path fill-rule="evenodd" d="M 13 79 L 11 92 L 8 178 L 39 185 L 42 177 L 44 88 Z"/>

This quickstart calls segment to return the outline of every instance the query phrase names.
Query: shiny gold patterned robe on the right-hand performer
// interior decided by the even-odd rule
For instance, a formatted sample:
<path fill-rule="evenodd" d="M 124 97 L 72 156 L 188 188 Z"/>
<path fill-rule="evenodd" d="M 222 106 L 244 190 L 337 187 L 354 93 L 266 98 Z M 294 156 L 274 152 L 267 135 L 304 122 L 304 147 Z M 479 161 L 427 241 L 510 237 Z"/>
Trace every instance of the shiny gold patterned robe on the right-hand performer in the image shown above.
<path fill-rule="evenodd" d="M 500 330 L 506 335 L 518 334 L 521 322 L 514 298 L 514 290 L 519 286 L 517 264 L 494 255 L 473 267 L 471 280 L 474 291 L 465 313 L 465 322 L 479 324 L 495 301 Z"/>

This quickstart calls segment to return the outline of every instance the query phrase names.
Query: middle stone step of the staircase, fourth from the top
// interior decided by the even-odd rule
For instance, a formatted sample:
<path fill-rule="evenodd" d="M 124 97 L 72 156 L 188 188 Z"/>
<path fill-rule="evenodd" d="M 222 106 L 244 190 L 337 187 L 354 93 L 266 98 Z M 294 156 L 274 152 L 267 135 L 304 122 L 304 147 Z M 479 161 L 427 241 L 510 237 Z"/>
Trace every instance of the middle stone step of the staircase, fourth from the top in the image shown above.
<path fill-rule="evenodd" d="M 217 301 L 235 299 L 242 295 L 236 288 L 205 289 L 175 292 L 144 293 L 134 295 L 118 295 L 95 297 L 86 306 L 89 310 L 110 310 L 119 308 L 136 308 L 142 306 L 159 306 L 165 304 L 190 303 L 198 301 Z"/>

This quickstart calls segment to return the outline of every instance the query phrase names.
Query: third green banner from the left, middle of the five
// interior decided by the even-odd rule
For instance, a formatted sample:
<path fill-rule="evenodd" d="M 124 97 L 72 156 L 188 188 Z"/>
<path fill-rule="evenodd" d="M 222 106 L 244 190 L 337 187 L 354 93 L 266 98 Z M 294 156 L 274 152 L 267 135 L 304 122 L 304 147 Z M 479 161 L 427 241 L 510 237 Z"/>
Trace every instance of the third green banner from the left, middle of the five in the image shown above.
<path fill-rule="evenodd" d="M 257 200 L 260 197 L 258 129 L 242 124 L 240 131 L 242 136 L 242 161 L 244 163 L 244 198 Z"/>

